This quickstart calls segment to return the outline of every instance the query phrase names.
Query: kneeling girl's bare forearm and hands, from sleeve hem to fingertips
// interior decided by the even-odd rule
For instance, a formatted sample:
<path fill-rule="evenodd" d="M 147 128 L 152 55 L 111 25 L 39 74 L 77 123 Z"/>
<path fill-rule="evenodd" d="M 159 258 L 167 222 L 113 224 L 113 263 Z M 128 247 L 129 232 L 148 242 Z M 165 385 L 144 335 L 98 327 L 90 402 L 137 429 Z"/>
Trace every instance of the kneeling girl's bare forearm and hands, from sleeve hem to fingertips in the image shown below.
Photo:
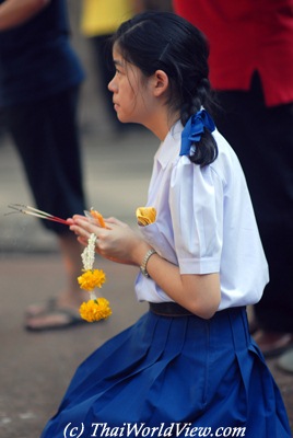
<path fill-rule="evenodd" d="M 133 230 L 117 219 L 106 220 L 107 229 L 101 228 L 84 217 L 75 216 L 70 229 L 86 245 L 90 234 L 97 235 L 97 252 L 105 258 L 141 266 L 151 246 Z M 218 310 L 221 299 L 220 276 L 181 275 L 178 266 L 157 254 L 153 254 L 146 265 L 151 278 L 178 304 L 196 315 L 211 318 Z"/>

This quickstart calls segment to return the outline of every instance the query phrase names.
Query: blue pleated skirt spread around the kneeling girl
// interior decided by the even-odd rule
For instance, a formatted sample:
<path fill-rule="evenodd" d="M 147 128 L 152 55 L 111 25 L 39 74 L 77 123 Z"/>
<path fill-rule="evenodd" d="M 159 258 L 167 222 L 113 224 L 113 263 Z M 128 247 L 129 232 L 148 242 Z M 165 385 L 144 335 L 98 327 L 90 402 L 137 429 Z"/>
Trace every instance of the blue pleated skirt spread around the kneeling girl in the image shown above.
<path fill-rule="evenodd" d="M 145 313 L 78 368 L 42 438 L 186 437 L 200 430 L 291 437 L 244 308 L 210 320 Z"/>

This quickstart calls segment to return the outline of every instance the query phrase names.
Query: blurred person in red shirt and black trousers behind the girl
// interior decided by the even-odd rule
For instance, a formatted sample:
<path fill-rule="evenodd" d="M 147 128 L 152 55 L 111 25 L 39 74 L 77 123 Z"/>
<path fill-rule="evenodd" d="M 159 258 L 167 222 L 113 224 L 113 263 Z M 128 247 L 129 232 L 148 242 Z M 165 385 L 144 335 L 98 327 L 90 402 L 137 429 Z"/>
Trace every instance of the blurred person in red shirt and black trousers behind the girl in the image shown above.
<path fill-rule="evenodd" d="M 293 2 L 173 4 L 210 43 L 215 122 L 244 168 L 270 267 L 251 330 L 267 357 L 279 355 L 293 342 Z"/>

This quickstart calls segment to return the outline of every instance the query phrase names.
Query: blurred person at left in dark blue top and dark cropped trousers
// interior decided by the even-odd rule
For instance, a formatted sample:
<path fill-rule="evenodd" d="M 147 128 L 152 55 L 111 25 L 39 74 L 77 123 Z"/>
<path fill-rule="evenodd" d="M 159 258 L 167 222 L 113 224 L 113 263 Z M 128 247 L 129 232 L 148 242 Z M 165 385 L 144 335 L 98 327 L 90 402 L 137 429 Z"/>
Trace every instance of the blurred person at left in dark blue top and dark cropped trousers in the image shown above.
<path fill-rule="evenodd" d="M 0 0 L 0 114 L 20 153 L 36 206 L 61 218 L 85 207 L 77 122 L 82 66 L 69 44 L 67 1 Z M 66 226 L 56 233 L 67 285 L 27 309 L 28 330 L 81 323 L 81 249 Z"/>

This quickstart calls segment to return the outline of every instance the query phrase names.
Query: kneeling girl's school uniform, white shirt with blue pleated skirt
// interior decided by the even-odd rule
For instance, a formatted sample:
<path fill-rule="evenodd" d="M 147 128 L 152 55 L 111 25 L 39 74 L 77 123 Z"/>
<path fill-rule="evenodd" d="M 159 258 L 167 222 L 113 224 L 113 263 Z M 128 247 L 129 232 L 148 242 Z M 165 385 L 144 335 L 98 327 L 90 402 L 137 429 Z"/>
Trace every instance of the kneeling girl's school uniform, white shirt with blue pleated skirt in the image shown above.
<path fill-rule="evenodd" d="M 139 274 L 137 298 L 150 311 L 81 365 L 42 438 L 62 437 L 69 423 L 83 424 L 83 436 L 93 424 L 101 424 L 96 436 L 102 427 L 113 434 L 144 427 L 138 436 L 146 428 L 178 436 L 180 427 L 291 436 L 279 389 L 248 331 L 245 307 L 260 299 L 268 266 L 241 165 L 218 131 L 212 164 L 179 157 L 181 129 L 175 124 L 155 154 L 148 206 L 156 220 L 140 230 L 181 274 L 220 273 L 219 311 L 210 320 L 192 315 Z"/>

